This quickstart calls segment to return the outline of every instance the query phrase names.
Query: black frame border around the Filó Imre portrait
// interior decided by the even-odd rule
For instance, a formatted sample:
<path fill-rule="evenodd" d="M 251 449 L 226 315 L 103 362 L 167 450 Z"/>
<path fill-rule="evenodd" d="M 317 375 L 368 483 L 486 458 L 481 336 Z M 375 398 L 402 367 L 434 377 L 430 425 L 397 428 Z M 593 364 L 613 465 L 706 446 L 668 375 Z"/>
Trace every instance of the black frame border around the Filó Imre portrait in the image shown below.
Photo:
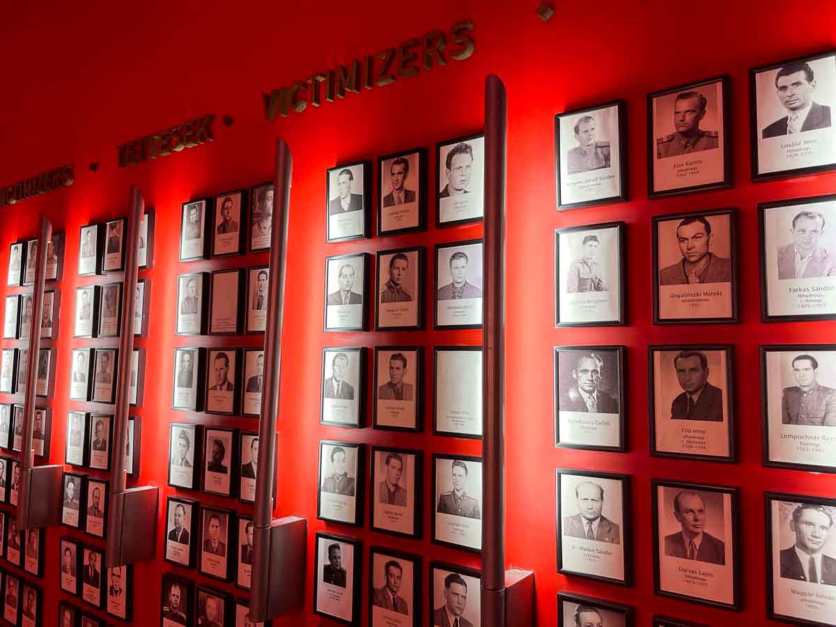
<path fill-rule="evenodd" d="M 724 415 L 726 410 L 728 412 L 728 441 L 729 454 L 722 455 L 708 455 L 701 453 L 681 453 L 672 451 L 660 451 L 656 446 L 656 405 L 655 405 L 655 364 L 654 353 L 657 351 L 674 352 L 674 351 L 696 351 L 705 353 L 707 351 L 717 351 L 725 353 L 726 355 L 726 380 L 723 381 L 726 385 L 726 403 L 723 407 Z M 696 461 L 721 461 L 723 463 L 733 464 L 737 461 L 737 411 L 736 411 L 736 394 L 734 388 L 734 346 L 732 344 L 650 344 L 647 347 L 647 393 L 648 393 L 648 413 L 650 415 L 650 456 L 653 457 L 670 457 L 673 459 L 689 459 Z M 708 381 L 706 380 L 706 384 Z M 715 386 L 716 387 L 716 386 Z M 701 390 L 705 390 L 703 387 Z M 683 390 L 683 394 L 685 391 Z M 681 420 L 673 419 L 671 420 Z M 700 420 L 700 422 L 716 422 Z"/>

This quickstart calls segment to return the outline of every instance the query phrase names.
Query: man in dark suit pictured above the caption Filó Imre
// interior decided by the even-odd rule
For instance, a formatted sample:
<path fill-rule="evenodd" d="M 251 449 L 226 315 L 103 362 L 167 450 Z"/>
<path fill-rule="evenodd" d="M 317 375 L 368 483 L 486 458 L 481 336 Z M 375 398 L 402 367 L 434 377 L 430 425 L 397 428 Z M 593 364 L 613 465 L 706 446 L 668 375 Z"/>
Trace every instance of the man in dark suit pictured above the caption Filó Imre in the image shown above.
<path fill-rule="evenodd" d="M 683 350 L 674 357 L 676 379 L 683 391 L 670 404 L 675 421 L 723 420 L 723 391 L 708 382 L 708 358 L 698 350 Z"/>

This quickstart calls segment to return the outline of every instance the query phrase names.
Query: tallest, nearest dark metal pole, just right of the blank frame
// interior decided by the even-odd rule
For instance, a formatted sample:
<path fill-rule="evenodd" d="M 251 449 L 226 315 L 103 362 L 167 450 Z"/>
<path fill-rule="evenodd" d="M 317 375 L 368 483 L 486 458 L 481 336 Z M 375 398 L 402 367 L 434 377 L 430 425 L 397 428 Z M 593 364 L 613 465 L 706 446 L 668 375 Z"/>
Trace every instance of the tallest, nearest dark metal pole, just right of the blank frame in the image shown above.
<path fill-rule="evenodd" d="M 505 87 L 485 83 L 485 298 L 482 331 L 484 381 L 482 519 L 482 626 L 505 624 Z"/>

